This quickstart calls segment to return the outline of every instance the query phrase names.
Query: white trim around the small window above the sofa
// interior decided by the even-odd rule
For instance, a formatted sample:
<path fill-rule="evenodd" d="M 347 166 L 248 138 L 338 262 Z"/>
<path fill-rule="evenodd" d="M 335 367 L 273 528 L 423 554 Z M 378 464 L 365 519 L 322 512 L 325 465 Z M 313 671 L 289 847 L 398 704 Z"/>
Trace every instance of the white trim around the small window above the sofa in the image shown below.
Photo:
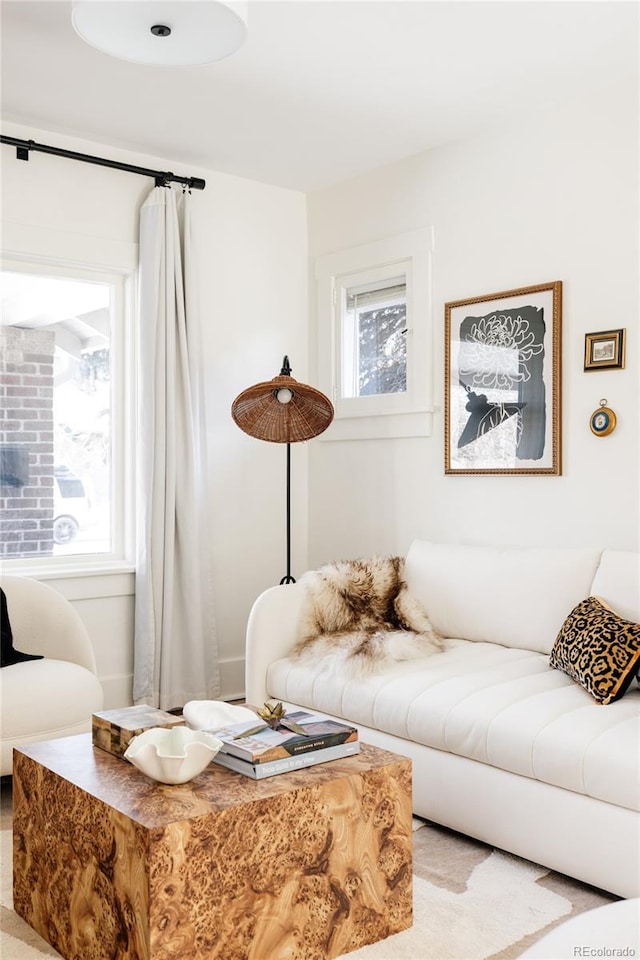
<path fill-rule="evenodd" d="M 423 229 L 319 257 L 316 261 L 318 378 L 336 416 L 319 439 L 431 436 L 433 430 L 433 229 Z M 344 291 L 368 279 L 402 274 L 407 282 L 407 392 L 338 396 Z"/>

